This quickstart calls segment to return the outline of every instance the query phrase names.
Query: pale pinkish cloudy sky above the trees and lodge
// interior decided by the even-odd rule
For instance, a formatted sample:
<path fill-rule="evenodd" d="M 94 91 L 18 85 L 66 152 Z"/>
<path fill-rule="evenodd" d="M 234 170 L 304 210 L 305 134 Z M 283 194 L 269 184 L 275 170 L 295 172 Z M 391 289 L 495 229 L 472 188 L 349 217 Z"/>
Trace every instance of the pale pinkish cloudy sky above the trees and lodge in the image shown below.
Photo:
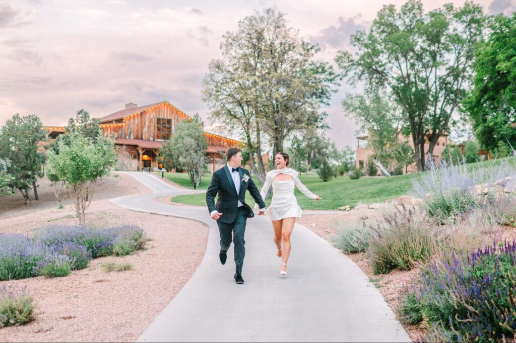
<path fill-rule="evenodd" d="M 318 43 L 318 59 L 332 62 L 349 48 L 382 5 L 405 0 L 0 0 L 0 125 L 14 113 L 37 114 L 44 125 L 65 125 L 79 109 L 102 117 L 126 102 L 168 100 L 206 119 L 201 81 L 220 57 L 226 31 L 255 10 L 277 7 L 300 35 Z M 423 0 L 426 10 L 450 0 Z M 486 13 L 516 11 L 516 0 L 476 0 Z M 456 6 L 463 3 L 453 1 Z M 328 136 L 354 145 L 357 127 L 334 94 Z M 215 131 L 206 121 L 206 130 Z M 219 132 L 232 136 L 228 132 Z M 236 137 L 235 137 L 236 138 Z"/>

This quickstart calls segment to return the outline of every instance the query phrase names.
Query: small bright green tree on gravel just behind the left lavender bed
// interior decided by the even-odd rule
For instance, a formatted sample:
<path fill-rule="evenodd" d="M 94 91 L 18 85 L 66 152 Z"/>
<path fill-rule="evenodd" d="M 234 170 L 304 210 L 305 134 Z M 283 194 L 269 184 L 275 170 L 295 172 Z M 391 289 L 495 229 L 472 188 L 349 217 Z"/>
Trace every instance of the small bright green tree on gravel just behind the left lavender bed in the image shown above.
<path fill-rule="evenodd" d="M 99 130 L 100 131 L 100 130 Z M 116 163 L 115 140 L 100 131 L 96 140 L 79 130 L 68 134 L 70 146 L 58 142 L 59 153 L 49 150 L 47 170 L 52 180 L 65 182 L 74 202 L 79 224 L 86 224 L 86 210 L 95 193 L 96 182 L 109 174 Z"/>

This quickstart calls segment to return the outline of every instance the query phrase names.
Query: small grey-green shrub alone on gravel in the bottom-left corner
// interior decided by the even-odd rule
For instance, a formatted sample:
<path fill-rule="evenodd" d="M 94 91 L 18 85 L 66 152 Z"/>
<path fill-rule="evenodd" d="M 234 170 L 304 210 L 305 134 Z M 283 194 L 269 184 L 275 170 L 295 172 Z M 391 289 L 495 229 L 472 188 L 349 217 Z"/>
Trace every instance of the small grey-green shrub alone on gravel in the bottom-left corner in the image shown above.
<path fill-rule="evenodd" d="M 36 305 L 26 289 L 16 291 L 6 285 L 0 286 L 0 328 L 23 325 L 34 320 Z"/>

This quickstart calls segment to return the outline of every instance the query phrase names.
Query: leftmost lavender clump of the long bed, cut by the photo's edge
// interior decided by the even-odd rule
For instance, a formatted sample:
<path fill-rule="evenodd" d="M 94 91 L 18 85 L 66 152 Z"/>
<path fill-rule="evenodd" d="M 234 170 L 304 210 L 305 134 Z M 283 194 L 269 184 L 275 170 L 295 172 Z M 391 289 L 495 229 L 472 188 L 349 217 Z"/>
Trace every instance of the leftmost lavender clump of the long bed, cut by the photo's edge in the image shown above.
<path fill-rule="evenodd" d="M 0 280 L 30 278 L 45 258 L 45 249 L 22 234 L 0 234 Z"/>

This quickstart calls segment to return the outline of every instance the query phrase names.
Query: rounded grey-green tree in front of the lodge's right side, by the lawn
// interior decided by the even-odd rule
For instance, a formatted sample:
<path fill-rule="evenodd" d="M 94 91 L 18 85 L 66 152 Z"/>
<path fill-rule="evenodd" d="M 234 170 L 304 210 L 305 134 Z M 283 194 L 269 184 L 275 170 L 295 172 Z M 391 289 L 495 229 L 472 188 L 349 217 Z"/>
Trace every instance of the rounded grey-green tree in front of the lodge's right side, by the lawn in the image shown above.
<path fill-rule="evenodd" d="M 207 147 L 203 125 L 197 121 L 182 121 L 170 140 L 159 149 L 159 156 L 167 169 L 186 170 L 196 189 L 204 173 Z"/>

